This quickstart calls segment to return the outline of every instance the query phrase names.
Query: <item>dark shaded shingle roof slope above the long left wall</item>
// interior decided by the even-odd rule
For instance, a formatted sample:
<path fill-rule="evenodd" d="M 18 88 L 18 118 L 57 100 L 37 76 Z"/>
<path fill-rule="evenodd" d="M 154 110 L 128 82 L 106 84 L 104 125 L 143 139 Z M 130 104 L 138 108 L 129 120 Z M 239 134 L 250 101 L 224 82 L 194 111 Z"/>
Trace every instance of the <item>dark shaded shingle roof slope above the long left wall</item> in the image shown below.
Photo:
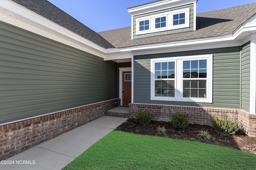
<path fill-rule="evenodd" d="M 37 14 L 55 22 L 56 24 L 100 45 L 104 48 L 113 48 L 110 42 L 105 40 L 98 33 L 94 32 L 60 8 L 47 0 L 12 0 L 17 4 L 36 12 Z"/>

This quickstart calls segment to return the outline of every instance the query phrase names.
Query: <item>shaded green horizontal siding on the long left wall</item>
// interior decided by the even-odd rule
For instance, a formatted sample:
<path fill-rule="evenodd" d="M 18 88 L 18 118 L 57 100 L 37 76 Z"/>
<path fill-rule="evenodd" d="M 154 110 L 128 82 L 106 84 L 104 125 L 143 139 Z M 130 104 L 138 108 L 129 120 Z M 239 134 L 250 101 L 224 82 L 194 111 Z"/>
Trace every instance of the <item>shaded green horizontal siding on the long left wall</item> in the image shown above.
<path fill-rule="evenodd" d="M 0 123 L 117 97 L 116 63 L 0 26 Z"/>

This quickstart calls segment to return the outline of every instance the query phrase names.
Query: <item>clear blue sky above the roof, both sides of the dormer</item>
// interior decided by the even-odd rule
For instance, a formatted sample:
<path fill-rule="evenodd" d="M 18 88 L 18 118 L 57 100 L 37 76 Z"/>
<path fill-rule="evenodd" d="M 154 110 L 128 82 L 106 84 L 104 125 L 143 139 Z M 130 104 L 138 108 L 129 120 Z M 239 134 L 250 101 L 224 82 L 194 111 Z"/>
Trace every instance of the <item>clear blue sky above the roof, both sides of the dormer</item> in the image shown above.
<path fill-rule="evenodd" d="M 95 32 L 131 26 L 129 7 L 155 0 L 48 0 Z M 256 0 L 198 0 L 196 13 L 254 3 Z"/>

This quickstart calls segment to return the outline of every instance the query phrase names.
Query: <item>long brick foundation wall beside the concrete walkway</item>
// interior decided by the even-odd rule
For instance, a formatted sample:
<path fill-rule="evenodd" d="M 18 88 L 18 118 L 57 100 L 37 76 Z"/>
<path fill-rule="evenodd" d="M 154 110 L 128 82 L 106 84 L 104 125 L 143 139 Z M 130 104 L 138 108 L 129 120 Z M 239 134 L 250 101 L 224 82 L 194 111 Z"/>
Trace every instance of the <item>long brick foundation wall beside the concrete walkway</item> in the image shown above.
<path fill-rule="evenodd" d="M 50 115 L 0 126 L 0 160 L 9 158 L 46 140 L 50 140 L 94 119 L 118 106 L 113 99 Z"/>

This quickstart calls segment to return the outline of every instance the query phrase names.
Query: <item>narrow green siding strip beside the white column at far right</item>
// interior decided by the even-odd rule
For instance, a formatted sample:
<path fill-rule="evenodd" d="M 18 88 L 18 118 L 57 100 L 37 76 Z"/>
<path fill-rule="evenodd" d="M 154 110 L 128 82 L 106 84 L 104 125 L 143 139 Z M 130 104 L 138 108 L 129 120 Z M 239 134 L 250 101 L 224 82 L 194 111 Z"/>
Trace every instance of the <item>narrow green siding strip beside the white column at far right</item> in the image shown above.
<path fill-rule="evenodd" d="M 242 45 L 241 66 L 241 108 L 250 112 L 250 43 Z"/>

